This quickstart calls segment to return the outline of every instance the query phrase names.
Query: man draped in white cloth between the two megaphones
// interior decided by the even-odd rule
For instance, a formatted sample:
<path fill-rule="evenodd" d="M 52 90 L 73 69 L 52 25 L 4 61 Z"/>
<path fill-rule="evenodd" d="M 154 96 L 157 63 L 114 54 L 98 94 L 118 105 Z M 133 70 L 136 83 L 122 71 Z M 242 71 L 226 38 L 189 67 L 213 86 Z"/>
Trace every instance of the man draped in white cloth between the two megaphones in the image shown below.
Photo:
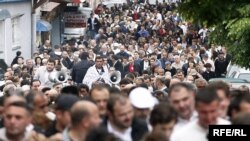
<path fill-rule="evenodd" d="M 83 84 L 86 84 L 91 88 L 94 84 L 106 83 L 110 84 L 109 81 L 109 71 L 106 67 L 103 67 L 103 58 L 97 56 L 95 59 L 95 65 L 90 67 L 84 76 L 82 81 Z"/>

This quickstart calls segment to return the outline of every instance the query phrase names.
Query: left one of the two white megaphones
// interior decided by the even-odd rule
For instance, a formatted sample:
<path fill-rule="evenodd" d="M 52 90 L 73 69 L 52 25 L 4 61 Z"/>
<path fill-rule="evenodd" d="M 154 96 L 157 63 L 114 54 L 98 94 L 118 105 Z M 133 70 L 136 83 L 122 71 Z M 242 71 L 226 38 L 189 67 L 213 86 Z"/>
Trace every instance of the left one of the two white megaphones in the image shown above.
<path fill-rule="evenodd" d="M 49 81 L 53 83 L 65 83 L 68 80 L 68 75 L 64 71 L 54 71 L 49 74 Z"/>

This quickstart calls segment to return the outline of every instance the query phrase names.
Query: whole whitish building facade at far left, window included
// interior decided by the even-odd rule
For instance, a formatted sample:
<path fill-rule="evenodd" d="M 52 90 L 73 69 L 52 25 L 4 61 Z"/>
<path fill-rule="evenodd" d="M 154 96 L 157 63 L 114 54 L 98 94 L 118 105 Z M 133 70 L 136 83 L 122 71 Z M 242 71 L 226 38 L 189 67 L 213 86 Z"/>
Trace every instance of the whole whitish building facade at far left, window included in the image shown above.
<path fill-rule="evenodd" d="M 28 59 L 32 51 L 31 0 L 0 0 L 0 59 L 10 65 L 16 51 Z"/>

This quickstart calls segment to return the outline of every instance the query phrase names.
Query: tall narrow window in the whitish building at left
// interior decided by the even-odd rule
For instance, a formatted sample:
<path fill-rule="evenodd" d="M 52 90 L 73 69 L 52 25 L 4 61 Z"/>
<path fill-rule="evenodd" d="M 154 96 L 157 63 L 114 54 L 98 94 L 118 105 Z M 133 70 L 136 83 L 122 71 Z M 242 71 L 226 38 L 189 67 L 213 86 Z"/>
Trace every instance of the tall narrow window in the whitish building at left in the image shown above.
<path fill-rule="evenodd" d="M 12 47 L 20 46 L 21 34 L 20 34 L 20 16 L 11 19 L 12 24 Z"/>

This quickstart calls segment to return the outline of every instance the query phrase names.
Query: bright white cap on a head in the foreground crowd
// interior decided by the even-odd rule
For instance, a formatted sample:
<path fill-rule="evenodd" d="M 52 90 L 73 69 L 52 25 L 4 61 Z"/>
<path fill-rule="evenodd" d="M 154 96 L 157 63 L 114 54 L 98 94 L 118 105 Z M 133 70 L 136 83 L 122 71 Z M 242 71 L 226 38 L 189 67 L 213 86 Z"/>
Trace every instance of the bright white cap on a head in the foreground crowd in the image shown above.
<path fill-rule="evenodd" d="M 138 109 L 152 108 L 158 103 L 150 91 L 142 87 L 133 89 L 129 94 L 129 99 L 132 105 Z"/>

